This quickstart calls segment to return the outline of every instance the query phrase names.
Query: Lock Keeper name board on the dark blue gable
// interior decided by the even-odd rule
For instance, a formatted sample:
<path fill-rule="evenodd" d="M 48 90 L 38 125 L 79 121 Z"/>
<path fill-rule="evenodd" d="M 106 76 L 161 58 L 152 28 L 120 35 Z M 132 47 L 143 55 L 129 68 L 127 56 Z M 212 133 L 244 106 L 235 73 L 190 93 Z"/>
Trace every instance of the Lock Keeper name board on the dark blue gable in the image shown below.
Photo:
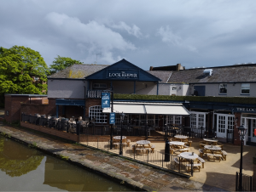
<path fill-rule="evenodd" d="M 109 79 L 138 79 L 139 71 L 137 70 L 108 70 L 107 78 Z"/>

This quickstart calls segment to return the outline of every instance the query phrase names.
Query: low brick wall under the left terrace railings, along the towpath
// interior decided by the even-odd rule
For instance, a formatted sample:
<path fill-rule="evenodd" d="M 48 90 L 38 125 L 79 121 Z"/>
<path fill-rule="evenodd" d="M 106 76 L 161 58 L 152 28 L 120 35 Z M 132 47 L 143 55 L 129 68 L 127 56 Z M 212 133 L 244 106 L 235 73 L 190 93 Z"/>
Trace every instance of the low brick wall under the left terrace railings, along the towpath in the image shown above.
<path fill-rule="evenodd" d="M 37 125 L 34 125 L 34 124 L 30 124 L 28 122 L 22 122 L 22 121 L 20 121 L 20 125 L 22 127 L 30 128 L 32 130 L 37 130 L 37 131 L 42 132 L 42 133 L 48 133 L 50 135 L 54 135 L 54 136 L 57 136 L 57 137 L 60 137 L 60 138 L 65 138 L 65 139 L 72 140 L 72 141 L 75 141 L 75 142 L 78 141 L 78 136 L 76 134 L 73 134 L 73 133 L 61 132 L 61 131 L 58 131 L 58 130 L 53 129 L 53 128 L 37 126 Z"/>

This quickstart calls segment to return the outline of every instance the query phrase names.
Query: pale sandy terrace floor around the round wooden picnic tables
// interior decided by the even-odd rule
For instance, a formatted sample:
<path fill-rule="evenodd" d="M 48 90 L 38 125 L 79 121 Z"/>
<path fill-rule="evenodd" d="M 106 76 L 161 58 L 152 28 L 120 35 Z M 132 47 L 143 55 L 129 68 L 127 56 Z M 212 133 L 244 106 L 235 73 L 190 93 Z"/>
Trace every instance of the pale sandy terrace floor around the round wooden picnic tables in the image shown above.
<path fill-rule="evenodd" d="M 98 136 L 99 138 L 99 148 L 106 147 L 105 150 L 109 150 L 109 136 Z M 130 147 L 124 147 L 123 155 L 127 157 L 134 157 L 134 153 L 132 152 L 131 145 L 136 144 L 136 141 L 138 140 L 144 140 L 145 137 L 134 137 L 134 136 L 127 136 L 127 139 L 131 139 Z M 161 153 L 165 152 L 165 141 L 163 140 L 163 136 L 152 136 L 148 137 L 148 140 L 151 142 L 151 144 L 155 145 L 154 154 L 149 153 L 148 155 L 137 155 L 136 153 L 136 159 L 147 161 L 147 158 L 154 155 L 154 158 L 159 158 L 159 162 L 154 165 L 161 167 L 161 159 L 162 155 Z M 192 140 L 192 146 L 189 147 L 189 152 L 194 152 L 199 155 L 199 142 L 202 141 L 201 138 L 192 138 L 189 139 Z M 90 146 L 96 147 L 97 142 L 84 142 L 84 144 L 88 144 Z M 100 144 L 102 143 L 102 144 Z M 103 144 L 104 143 L 104 144 Z M 190 179 L 194 181 L 201 182 L 203 184 L 208 184 L 211 186 L 218 186 L 223 189 L 228 189 L 230 191 L 233 191 L 236 186 L 236 172 L 239 172 L 240 169 L 240 155 L 241 155 L 241 146 L 233 145 L 233 144 L 226 144 L 223 143 L 224 147 L 223 150 L 225 150 L 228 155 L 226 161 L 208 161 L 207 157 L 203 157 L 205 159 L 206 163 L 204 165 L 204 168 L 201 168 L 201 171 L 195 171 L 193 177 Z M 113 153 L 119 154 L 119 149 L 113 149 L 111 150 Z M 249 176 L 253 176 L 253 155 L 255 155 L 256 147 L 255 146 L 243 146 L 243 170 L 242 173 L 247 174 Z M 159 155 L 157 155 L 159 154 Z M 178 153 L 177 153 L 178 154 Z M 170 163 L 164 163 L 164 167 L 170 166 Z"/>

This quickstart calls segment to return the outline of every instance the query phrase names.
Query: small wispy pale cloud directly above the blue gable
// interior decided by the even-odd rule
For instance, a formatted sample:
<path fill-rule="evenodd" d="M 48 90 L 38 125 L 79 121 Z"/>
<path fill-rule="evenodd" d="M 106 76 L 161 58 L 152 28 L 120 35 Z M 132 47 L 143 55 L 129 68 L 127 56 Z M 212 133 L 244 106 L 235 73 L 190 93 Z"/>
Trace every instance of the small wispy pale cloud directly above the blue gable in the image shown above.
<path fill-rule="evenodd" d="M 141 29 L 137 27 L 137 25 L 129 26 L 124 21 L 120 21 L 118 24 L 114 24 L 113 22 L 108 22 L 108 25 L 113 29 L 125 30 L 130 35 L 135 36 L 137 38 L 143 37 Z"/>

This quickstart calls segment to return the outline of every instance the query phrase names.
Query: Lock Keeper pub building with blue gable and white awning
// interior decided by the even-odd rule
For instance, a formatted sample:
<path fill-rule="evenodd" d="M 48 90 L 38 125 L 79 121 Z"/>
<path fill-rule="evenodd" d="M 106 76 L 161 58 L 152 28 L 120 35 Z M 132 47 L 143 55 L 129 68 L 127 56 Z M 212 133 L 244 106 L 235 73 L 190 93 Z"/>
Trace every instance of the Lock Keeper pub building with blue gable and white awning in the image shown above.
<path fill-rule="evenodd" d="M 82 116 L 96 125 L 108 125 L 111 108 L 102 109 L 102 91 L 133 95 L 177 95 L 234 98 L 256 97 L 256 65 L 228 65 L 185 69 L 181 64 L 152 67 L 144 71 L 125 59 L 113 65 L 72 65 L 48 76 L 49 104 L 55 116 Z M 242 76 L 234 76 L 241 74 Z M 190 97 L 191 98 L 191 97 Z M 250 102 L 252 103 L 252 102 Z M 21 111 L 22 112 L 22 111 Z M 256 144 L 256 105 L 208 102 L 206 99 L 148 100 L 113 99 L 115 125 L 120 113 L 126 124 L 202 128 L 208 137 L 240 144 L 237 127 L 247 127 L 245 144 Z"/>

